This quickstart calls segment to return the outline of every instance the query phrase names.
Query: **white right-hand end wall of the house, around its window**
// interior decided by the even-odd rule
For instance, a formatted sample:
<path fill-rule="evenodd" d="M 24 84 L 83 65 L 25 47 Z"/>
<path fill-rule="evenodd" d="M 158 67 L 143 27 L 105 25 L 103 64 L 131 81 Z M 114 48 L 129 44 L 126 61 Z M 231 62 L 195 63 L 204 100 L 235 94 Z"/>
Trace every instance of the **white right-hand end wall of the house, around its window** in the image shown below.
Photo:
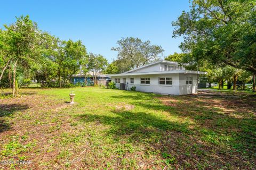
<path fill-rule="evenodd" d="M 179 74 L 180 95 L 197 94 L 197 74 Z M 192 85 L 186 85 L 187 77 L 192 77 Z"/>

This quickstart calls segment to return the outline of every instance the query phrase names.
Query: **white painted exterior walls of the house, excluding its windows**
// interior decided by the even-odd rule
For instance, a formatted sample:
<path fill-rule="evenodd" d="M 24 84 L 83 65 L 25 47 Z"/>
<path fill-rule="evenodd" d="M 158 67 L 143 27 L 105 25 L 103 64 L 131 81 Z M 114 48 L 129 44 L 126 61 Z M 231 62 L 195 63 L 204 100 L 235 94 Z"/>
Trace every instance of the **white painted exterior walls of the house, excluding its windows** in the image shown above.
<path fill-rule="evenodd" d="M 182 71 L 179 70 L 179 68 L 169 72 L 164 71 L 165 65 L 178 67 L 177 63 L 161 61 L 139 69 L 131 70 L 130 72 L 113 74 L 111 75 L 111 81 L 115 82 L 115 79 L 119 78 L 120 83 L 124 83 L 123 78 L 126 78 L 126 88 L 130 89 L 131 87 L 135 86 L 137 91 L 155 92 L 159 94 L 170 95 L 188 95 L 197 93 L 197 77 L 200 72 L 184 71 L 184 67 L 182 67 Z M 204 72 L 201 73 L 204 74 Z M 192 77 L 191 85 L 186 84 L 187 77 Z M 130 83 L 130 78 L 134 78 L 133 84 Z M 150 84 L 141 84 L 140 78 L 150 78 Z M 172 85 L 159 84 L 159 78 L 172 78 Z M 120 87 L 119 83 L 116 83 L 116 87 Z"/>

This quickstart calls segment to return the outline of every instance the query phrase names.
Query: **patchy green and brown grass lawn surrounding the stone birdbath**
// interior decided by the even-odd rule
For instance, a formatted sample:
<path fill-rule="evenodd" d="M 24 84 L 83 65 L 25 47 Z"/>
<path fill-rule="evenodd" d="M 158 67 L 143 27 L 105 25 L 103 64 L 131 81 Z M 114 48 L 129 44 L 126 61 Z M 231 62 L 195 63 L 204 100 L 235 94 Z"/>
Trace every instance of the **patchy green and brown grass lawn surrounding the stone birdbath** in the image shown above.
<path fill-rule="evenodd" d="M 70 105 L 69 92 L 76 94 Z M 256 96 L 0 90 L 0 169 L 255 169 Z"/>

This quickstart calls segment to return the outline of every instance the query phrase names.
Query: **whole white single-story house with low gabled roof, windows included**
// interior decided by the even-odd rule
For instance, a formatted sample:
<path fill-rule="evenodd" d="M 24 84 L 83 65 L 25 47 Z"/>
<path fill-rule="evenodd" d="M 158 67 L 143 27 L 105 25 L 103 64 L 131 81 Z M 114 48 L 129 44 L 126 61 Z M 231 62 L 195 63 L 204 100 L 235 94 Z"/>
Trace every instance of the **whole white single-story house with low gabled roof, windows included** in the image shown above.
<path fill-rule="evenodd" d="M 177 62 L 162 60 L 121 74 L 111 74 L 109 77 L 117 88 L 123 87 L 120 85 L 124 83 L 128 90 L 135 86 L 136 91 L 188 95 L 197 93 L 199 74 L 206 72 L 185 70 Z"/>

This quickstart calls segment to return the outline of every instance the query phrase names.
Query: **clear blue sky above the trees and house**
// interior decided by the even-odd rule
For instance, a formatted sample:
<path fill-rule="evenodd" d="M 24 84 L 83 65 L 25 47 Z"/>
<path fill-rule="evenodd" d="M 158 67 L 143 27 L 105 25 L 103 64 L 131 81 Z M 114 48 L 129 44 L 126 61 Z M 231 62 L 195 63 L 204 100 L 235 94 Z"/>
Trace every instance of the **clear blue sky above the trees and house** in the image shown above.
<path fill-rule="evenodd" d="M 111 62 L 117 52 L 110 49 L 122 37 L 150 40 L 162 46 L 164 56 L 180 52 L 182 38 L 172 38 L 171 22 L 188 9 L 188 0 L 4 1 L 0 25 L 29 15 L 39 29 L 63 40 L 81 39 L 87 52 L 102 54 Z"/>

